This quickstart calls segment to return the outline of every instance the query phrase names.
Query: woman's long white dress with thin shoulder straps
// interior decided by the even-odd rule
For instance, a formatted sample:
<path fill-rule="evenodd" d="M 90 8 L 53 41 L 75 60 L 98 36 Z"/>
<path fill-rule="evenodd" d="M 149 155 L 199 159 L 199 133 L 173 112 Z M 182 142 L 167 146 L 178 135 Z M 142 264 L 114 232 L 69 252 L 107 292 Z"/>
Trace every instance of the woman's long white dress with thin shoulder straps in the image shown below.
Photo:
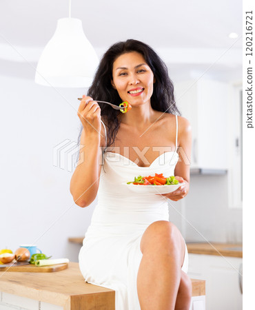
<path fill-rule="evenodd" d="M 176 146 L 177 132 L 176 116 Z M 79 267 L 85 282 L 115 291 L 116 310 L 140 310 L 136 277 L 143 256 L 141 237 L 155 221 L 169 221 L 168 204 L 162 196 L 136 194 L 121 183 L 139 175 L 173 176 L 179 154 L 176 149 L 165 152 L 150 167 L 139 167 L 118 153 L 104 154 L 98 203 L 79 252 Z M 186 273 L 187 264 L 185 247 L 182 269 Z"/>

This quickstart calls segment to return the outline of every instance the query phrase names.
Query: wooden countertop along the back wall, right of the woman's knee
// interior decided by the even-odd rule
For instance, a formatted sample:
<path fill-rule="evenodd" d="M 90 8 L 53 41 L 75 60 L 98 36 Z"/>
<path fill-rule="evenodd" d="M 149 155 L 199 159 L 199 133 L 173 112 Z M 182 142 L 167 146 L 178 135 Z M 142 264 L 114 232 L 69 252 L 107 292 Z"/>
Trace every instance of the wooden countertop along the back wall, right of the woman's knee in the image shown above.
<path fill-rule="evenodd" d="M 189 254 L 222 255 L 242 258 L 243 244 L 187 242 L 187 251 Z"/>

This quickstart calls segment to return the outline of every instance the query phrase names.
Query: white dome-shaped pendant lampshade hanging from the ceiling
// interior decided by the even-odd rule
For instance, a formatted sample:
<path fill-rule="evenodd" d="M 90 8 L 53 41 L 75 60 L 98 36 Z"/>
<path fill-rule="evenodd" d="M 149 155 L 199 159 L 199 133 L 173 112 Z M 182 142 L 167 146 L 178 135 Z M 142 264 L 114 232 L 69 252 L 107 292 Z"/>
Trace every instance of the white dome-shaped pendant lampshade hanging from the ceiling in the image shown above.
<path fill-rule="evenodd" d="M 85 37 L 80 19 L 59 19 L 37 65 L 35 83 L 54 87 L 89 87 L 99 59 Z"/>

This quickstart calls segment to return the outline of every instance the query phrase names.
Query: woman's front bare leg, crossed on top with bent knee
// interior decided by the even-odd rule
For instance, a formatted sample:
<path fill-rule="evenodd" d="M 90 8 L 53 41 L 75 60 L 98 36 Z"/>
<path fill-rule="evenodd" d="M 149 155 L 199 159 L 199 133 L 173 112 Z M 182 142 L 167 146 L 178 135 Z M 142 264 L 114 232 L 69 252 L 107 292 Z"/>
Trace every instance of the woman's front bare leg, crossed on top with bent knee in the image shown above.
<path fill-rule="evenodd" d="M 185 242 L 170 222 L 147 227 L 141 240 L 137 292 L 141 310 L 174 310 L 181 282 Z"/>

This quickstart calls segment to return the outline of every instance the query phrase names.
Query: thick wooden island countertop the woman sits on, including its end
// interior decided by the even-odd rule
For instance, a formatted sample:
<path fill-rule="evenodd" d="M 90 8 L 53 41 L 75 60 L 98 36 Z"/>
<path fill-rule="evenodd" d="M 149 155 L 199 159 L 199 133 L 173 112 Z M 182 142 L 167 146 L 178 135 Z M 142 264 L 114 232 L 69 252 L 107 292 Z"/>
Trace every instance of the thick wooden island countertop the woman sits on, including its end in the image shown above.
<path fill-rule="evenodd" d="M 3 292 L 0 308 L 6 296 L 12 294 L 10 296 L 38 300 L 39 309 L 41 309 L 40 302 L 58 305 L 61 306 L 58 309 L 64 310 L 115 309 L 115 292 L 112 289 L 85 283 L 77 262 L 70 262 L 68 269 L 58 272 L 3 271 L 0 276 L 0 291 Z M 204 280 L 192 280 L 192 296 L 205 296 Z M 17 307 L 17 304 L 14 307 Z"/>

